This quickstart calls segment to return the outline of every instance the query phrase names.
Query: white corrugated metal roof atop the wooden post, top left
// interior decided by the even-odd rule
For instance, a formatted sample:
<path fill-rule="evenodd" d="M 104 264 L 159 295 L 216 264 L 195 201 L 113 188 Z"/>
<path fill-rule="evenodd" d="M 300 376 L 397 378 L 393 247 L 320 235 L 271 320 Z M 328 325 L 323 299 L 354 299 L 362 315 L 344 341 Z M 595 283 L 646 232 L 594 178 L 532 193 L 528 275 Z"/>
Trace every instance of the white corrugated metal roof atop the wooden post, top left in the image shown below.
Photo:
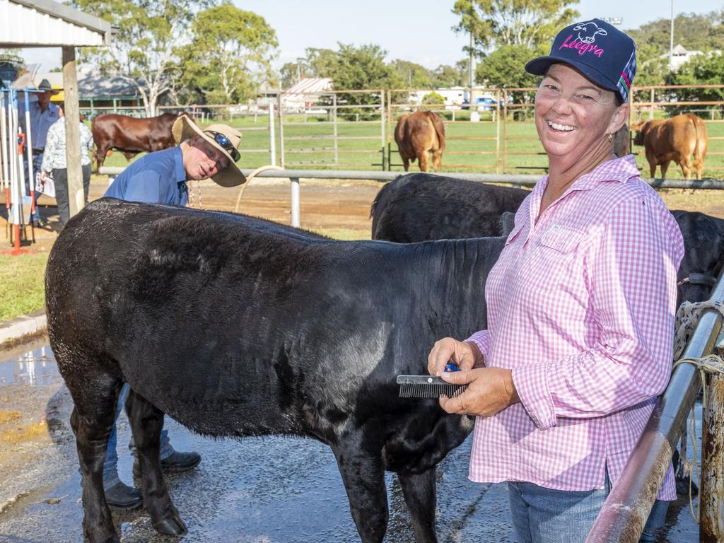
<path fill-rule="evenodd" d="M 104 46 L 111 24 L 53 0 L 0 0 L 0 47 Z"/>

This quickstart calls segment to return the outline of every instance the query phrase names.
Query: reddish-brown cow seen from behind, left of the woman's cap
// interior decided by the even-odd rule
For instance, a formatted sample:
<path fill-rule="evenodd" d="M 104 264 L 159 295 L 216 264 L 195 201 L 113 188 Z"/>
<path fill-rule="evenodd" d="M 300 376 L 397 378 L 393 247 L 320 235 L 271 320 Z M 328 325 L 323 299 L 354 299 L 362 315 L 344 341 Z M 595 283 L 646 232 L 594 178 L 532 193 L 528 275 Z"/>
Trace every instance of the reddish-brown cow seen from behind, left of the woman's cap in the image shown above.
<path fill-rule="evenodd" d="M 405 172 L 410 162 L 418 159 L 421 171 L 427 172 L 429 153 L 436 172 L 442 167 L 442 151 L 445 151 L 445 125 L 432 111 L 415 111 L 400 117 L 395 127 L 395 142 L 403 159 Z"/>

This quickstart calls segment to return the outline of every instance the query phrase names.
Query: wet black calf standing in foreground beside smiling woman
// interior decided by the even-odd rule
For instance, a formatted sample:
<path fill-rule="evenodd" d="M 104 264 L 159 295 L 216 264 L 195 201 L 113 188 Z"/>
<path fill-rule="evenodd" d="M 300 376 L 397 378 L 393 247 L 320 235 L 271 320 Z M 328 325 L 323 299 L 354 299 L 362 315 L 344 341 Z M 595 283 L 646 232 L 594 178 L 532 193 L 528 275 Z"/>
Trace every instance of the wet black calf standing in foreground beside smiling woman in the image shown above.
<path fill-rule="evenodd" d="M 484 281 L 504 243 L 340 242 L 245 216 L 90 203 L 67 223 L 46 269 L 90 543 L 119 541 L 101 467 L 124 381 L 156 530 L 186 531 L 159 463 L 167 413 L 212 437 L 326 443 L 366 543 L 382 542 L 384 471 L 395 472 L 416 541 L 436 542 L 435 466 L 473 418 L 400 398 L 395 376 L 426 374 L 436 340 L 487 326 Z"/>

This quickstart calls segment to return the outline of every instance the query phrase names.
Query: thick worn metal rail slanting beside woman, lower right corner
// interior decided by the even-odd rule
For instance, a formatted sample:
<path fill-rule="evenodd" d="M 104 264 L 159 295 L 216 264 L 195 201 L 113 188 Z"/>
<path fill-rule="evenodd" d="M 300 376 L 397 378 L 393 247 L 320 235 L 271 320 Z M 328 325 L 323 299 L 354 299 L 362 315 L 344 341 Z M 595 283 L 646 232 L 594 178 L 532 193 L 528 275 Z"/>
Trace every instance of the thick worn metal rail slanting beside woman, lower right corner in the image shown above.
<path fill-rule="evenodd" d="M 723 277 L 720 275 L 717 280 L 711 300 L 724 301 Z M 722 322 L 718 311 L 705 311 L 682 358 L 699 358 L 712 353 Z M 611 490 L 586 537 L 586 543 L 639 541 L 700 385 L 699 371 L 691 364 L 681 364 L 673 371 L 660 404 L 649 418 L 618 484 Z"/>

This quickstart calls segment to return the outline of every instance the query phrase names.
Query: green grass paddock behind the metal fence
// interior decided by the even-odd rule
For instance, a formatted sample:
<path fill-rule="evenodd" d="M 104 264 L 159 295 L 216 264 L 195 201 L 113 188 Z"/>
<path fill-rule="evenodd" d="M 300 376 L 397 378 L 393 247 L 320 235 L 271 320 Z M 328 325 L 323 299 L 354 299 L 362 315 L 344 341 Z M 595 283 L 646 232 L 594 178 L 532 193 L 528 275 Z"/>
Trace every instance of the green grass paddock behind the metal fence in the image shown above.
<path fill-rule="evenodd" d="M 458 112 L 456 119 L 466 111 Z M 486 120 L 488 119 L 488 120 Z M 334 138 L 332 125 L 321 124 L 320 120 L 326 118 L 303 116 L 285 117 L 285 166 L 294 169 L 382 169 L 382 130 L 379 122 L 343 122 L 341 119 L 337 125 L 337 135 L 341 138 L 371 138 L 371 139 L 341 139 L 337 141 L 337 165 L 334 164 Z M 239 128 L 243 132 L 241 165 L 244 168 L 256 168 L 269 164 L 269 131 L 266 129 L 266 117 L 260 115 L 256 123 L 253 117 L 234 117 L 218 119 L 219 122 L 227 122 Z M 216 122 L 214 121 L 209 122 Z M 292 124 L 300 123 L 300 124 Z M 704 177 L 715 179 L 724 178 L 724 139 L 712 140 L 711 138 L 724 138 L 724 122 L 707 121 L 707 130 L 710 137 L 709 154 L 704 163 Z M 384 148 L 387 150 L 387 141 L 390 138 L 390 127 L 385 126 Z M 258 130 L 261 129 L 261 130 Z M 394 123 L 392 125 L 394 130 Z M 487 140 L 464 140 L 455 138 L 496 138 L 500 131 L 500 161 L 496 162 L 495 150 L 496 141 Z M 483 117 L 481 122 L 455 122 L 447 123 L 447 146 L 442 157 L 443 172 L 481 172 L 494 173 L 500 169 L 502 173 L 509 174 L 541 174 L 547 165 L 546 156 L 539 143 L 533 122 L 505 123 L 497 127 L 496 123 L 489 121 L 489 116 Z M 277 126 L 277 160 L 280 151 L 278 138 L 279 127 Z M 293 139 L 300 137 L 314 136 L 311 139 Z M 390 138 L 392 148 L 392 170 L 402 171 L 400 156 L 397 153 L 397 146 Z M 301 150 L 311 149 L 311 152 Z M 253 152 L 251 150 L 264 150 L 265 152 Z M 507 153 L 503 154 L 503 151 Z M 649 167 L 644 157 L 644 149 L 634 146 L 633 153 L 636 154 L 636 164 L 644 174 L 648 174 Z M 721 153 L 721 154 L 717 154 Z M 126 166 L 127 161 L 120 153 L 114 153 L 106 160 L 107 166 Z M 412 166 L 413 170 L 417 165 Z M 658 172 L 657 172 L 658 173 Z M 675 164 L 669 168 L 668 177 L 682 178 L 681 168 Z"/>

